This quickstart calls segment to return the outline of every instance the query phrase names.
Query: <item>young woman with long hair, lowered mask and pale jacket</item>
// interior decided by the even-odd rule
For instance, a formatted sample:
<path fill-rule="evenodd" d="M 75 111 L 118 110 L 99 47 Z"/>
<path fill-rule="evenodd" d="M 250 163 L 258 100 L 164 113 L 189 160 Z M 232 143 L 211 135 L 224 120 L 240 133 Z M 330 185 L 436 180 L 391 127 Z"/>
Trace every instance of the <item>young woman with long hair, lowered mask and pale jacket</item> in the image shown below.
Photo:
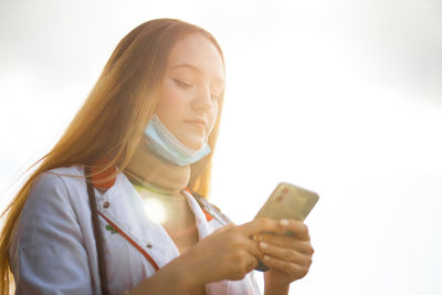
<path fill-rule="evenodd" d="M 312 263 L 306 225 L 234 225 L 199 197 L 223 96 L 207 31 L 157 19 L 127 34 L 4 213 L 1 295 L 12 282 L 15 294 L 259 294 L 259 261 L 265 294 L 287 294 Z"/>

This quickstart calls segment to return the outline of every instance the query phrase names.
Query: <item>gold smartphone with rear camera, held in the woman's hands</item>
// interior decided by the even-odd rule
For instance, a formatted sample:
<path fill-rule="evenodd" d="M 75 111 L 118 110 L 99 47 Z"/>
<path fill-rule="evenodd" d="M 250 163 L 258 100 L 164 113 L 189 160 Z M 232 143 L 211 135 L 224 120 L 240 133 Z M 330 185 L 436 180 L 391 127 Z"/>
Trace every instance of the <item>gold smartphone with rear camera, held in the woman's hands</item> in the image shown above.
<path fill-rule="evenodd" d="M 281 182 L 273 190 L 255 218 L 273 218 L 276 220 L 294 219 L 304 221 L 318 199 L 319 196 L 316 192 L 287 182 Z M 291 231 L 287 231 L 286 235 L 294 236 Z M 255 270 L 265 272 L 269 267 L 260 261 Z"/>

